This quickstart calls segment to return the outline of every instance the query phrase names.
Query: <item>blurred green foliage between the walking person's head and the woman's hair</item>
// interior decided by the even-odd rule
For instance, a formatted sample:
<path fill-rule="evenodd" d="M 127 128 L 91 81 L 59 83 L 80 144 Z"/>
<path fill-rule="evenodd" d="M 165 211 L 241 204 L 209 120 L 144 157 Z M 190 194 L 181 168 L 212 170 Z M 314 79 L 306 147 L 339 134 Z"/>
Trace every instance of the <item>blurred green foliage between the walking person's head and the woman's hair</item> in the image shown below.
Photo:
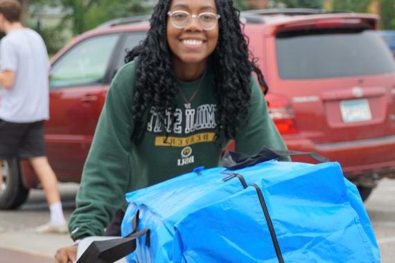
<path fill-rule="evenodd" d="M 46 42 L 49 53 L 56 53 L 67 42 L 62 34 L 65 30 L 71 31 L 67 35 L 80 35 L 87 30 L 105 23 L 111 19 L 143 15 L 151 12 L 151 7 L 144 6 L 140 0 L 20 0 L 24 7 L 25 24 L 36 30 Z M 40 26 L 32 23 L 35 17 L 44 8 L 60 8 L 63 17 L 58 25 Z"/>

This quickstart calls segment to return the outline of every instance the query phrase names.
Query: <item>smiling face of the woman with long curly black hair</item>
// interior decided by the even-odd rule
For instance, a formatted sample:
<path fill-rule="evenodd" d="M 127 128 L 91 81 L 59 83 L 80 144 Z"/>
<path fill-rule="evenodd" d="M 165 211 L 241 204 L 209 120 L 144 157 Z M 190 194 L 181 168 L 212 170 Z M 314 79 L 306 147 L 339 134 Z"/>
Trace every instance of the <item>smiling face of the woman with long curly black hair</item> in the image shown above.
<path fill-rule="evenodd" d="M 185 11 L 191 15 L 202 12 L 217 14 L 214 0 L 173 0 L 170 12 Z M 213 29 L 204 30 L 197 18 L 192 18 L 184 28 L 176 28 L 171 18 L 167 20 L 167 41 L 173 53 L 173 66 L 205 64 L 218 43 L 218 23 Z"/>

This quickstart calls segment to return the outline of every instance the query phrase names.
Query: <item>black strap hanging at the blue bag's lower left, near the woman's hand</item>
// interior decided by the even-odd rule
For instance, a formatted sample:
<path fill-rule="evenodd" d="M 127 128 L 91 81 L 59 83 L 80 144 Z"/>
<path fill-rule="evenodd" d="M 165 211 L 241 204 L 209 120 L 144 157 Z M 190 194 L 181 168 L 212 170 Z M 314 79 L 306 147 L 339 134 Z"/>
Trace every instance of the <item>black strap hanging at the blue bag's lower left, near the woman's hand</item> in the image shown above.
<path fill-rule="evenodd" d="M 137 231 L 139 210 L 132 220 L 133 231 L 126 237 L 92 242 L 77 263 L 110 263 L 121 260 L 136 250 L 136 240 L 146 235 L 146 246 L 150 246 L 150 230 Z"/>

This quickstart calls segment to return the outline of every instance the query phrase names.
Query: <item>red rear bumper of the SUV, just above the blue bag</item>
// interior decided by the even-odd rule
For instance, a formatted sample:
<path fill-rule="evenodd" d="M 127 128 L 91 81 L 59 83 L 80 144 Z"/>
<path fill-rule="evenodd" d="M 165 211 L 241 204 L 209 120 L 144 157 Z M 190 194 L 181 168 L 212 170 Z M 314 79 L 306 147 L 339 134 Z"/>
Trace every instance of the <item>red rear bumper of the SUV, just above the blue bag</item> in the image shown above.
<path fill-rule="evenodd" d="M 289 149 L 317 152 L 331 161 L 339 162 L 349 179 L 368 174 L 385 176 L 395 172 L 395 136 L 323 144 L 315 144 L 306 138 L 284 140 Z M 308 158 L 297 157 L 292 160 L 308 161 Z"/>

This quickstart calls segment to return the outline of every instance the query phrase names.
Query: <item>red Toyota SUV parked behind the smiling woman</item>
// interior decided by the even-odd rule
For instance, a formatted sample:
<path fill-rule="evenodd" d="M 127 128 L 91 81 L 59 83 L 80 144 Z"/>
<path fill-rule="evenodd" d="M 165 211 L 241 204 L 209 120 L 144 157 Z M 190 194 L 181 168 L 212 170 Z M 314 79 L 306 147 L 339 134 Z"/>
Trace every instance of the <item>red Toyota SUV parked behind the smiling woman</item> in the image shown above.
<path fill-rule="evenodd" d="M 395 62 L 376 31 L 378 17 L 254 10 L 241 19 L 270 87 L 270 115 L 288 147 L 340 162 L 364 199 L 378 179 L 394 176 Z M 148 26 L 148 17 L 110 21 L 53 58 L 45 140 L 60 181 L 80 181 L 109 82 Z M 37 178 L 16 160 L 5 162 L 3 174 L 0 208 L 16 208 Z"/>

